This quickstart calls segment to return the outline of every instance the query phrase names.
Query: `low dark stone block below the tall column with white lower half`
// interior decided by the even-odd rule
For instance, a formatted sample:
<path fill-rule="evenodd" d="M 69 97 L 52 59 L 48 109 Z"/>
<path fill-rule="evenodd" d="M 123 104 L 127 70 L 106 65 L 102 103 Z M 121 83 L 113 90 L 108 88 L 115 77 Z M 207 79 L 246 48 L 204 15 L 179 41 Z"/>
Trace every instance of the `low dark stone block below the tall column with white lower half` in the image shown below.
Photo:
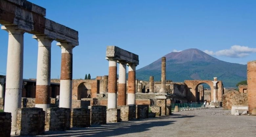
<path fill-rule="evenodd" d="M 48 108 L 45 130 L 70 129 L 71 110 L 69 108 Z"/>

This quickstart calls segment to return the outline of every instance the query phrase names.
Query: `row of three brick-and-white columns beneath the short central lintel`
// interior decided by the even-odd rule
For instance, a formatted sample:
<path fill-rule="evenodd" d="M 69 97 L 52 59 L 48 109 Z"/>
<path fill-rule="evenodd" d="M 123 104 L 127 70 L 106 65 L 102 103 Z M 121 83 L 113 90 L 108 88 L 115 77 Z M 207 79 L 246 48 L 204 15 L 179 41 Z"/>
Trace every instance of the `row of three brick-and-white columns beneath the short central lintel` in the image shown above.
<path fill-rule="evenodd" d="M 126 105 L 126 62 L 119 63 L 118 106 Z M 135 104 L 135 64 L 128 64 L 127 105 Z M 117 61 L 109 59 L 108 109 L 117 108 Z"/>

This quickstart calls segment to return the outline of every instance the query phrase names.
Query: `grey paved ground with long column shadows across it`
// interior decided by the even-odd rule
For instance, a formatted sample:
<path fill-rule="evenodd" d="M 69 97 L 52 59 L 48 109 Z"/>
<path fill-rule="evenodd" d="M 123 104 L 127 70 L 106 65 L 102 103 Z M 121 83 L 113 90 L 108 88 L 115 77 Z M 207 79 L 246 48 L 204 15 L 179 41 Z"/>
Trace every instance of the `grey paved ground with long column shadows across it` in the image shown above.
<path fill-rule="evenodd" d="M 40 136 L 92 136 L 92 137 L 254 137 L 256 116 L 231 115 L 230 110 L 209 108 L 174 112 L 161 116 L 90 128 L 72 128 L 68 131 L 46 131 Z"/>

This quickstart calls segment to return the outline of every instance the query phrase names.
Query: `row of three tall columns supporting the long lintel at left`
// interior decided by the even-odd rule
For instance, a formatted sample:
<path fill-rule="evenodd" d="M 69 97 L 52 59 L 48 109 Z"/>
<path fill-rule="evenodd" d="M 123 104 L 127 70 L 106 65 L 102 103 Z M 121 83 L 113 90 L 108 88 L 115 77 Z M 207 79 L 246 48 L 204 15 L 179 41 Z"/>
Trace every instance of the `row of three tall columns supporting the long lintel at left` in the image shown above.
<path fill-rule="evenodd" d="M 11 112 L 12 130 L 16 127 L 17 109 L 21 107 L 22 81 L 23 81 L 23 34 L 17 26 L 2 26 L 9 33 L 5 112 Z M 45 35 L 34 35 L 38 41 L 36 98 L 35 107 L 46 111 L 50 106 L 51 81 L 51 43 L 53 39 Z M 72 94 L 72 49 L 75 47 L 68 43 L 58 43 L 61 47 L 61 75 L 60 75 L 60 104 L 59 107 L 71 108 Z"/>

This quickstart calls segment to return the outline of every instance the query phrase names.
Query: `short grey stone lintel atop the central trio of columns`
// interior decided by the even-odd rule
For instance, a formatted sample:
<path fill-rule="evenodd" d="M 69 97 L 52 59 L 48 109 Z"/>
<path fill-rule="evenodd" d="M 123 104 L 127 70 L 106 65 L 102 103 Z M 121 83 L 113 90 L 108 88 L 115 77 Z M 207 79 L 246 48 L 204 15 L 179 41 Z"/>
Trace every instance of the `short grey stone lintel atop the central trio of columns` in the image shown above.
<path fill-rule="evenodd" d="M 124 61 L 128 64 L 139 65 L 139 56 L 137 54 L 123 50 L 117 46 L 107 46 L 106 59 Z"/>

